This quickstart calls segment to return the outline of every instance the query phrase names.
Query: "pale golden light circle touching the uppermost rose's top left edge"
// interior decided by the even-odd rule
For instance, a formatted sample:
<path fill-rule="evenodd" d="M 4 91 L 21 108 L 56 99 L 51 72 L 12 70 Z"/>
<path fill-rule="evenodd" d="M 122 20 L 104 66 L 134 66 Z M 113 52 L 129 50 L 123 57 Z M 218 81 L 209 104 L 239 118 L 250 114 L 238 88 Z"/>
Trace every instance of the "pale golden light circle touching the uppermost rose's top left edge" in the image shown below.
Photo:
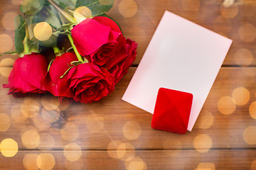
<path fill-rule="evenodd" d="M 86 18 L 92 18 L 92 11 L 90 8 L 87 8 L 86 6 L 80 6 L 75 9 L 73 13 L 75 20 L 80 23 L 84 21 Z"/>

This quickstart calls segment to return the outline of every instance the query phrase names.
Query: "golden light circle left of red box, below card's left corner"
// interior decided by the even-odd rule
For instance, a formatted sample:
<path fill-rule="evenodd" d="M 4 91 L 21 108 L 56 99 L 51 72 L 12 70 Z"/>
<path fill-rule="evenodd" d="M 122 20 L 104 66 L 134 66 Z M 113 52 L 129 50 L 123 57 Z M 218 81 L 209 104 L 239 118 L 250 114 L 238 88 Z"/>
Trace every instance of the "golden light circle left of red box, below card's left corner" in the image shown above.
<path fill-rule="evenodd" d="M 128 140 L 136 140 L 142 134 L 142 129 L 139 123 L 127 121 L 122 128 L 122 132 Z"/>

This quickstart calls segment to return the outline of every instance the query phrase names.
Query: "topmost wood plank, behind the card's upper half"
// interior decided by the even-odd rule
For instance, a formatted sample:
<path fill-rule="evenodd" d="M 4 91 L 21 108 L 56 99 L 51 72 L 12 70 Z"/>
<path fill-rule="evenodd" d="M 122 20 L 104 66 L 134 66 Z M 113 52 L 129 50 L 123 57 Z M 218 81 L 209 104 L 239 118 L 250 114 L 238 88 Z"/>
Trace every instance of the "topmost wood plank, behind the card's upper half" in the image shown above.
<path fill-rule="evenodd" d="M 226 13 L 223 14 L 224 16 L 234 16 L 234 18 L 225 18 L 222 15 L 222 13 L 224 13 L 221 13 L 220 11 L 222 1 L 196 0 L 193 1 L 193 3 L 190 3 L 191 1 L 189 0 L 135 0 L 132 1 L 134 3 L 128 3 L 127 6 L 122 6 L 121 2 L 121 0 L 117 0 L 112 10 L 108 14 L 119 23 L 119 25 L 122 27 L 124 35 L 127 38 L 136 40 L 138 42 L 139 46 L 137 49 L 137 60 L 135 60 L 134 65 L 139 64 L 139 61 L 142 59 L 142 55 L 144 54 L 144 51 L 146 50 L 146 47 L 149 44 L 149 41 L 154 34 L 154 31 L 156 30 L 156 26 L 158 25 L 161 16 L 166 10 L 176 13 L 183 18 L 187 18 L 194 23 L 198 23 L 203 27 L 228 36 L 228 38 L 231 38 L 233 40 L 233 45 L 230 48 L 230 52 L 228 52 L 228 56 L 225 59 L 225 65 L 256 64 L 255 58 L 253 57 L 253 54 L 255 54 L 256 52 L 254 38 L 254 28 L 256 25 L 256 21 L 253 17 L 255 16 L 255 1 L 239 1 L 233 7 L 222 8 L 222 11 Z M 8 12 L 20 13 L 18 11 L 18 6 L 14 6 L 13 4 L 9 3 L 9 0 L 2 0 L 2 4 L 4 5 L 2 5 L 0 8 L 1 18 L 4 16 L 4 14 Z M 134 8 L 135 12 L 137 10 L 134 16 L 122 16 L 122 11 L 129 11 L 130 8 Z M 10 19 L 7 20 L 6 23 L 13 24 L 13 21 Z M 245 28 L 248 29 L 240 30 L 241 36 L 245 35 L 249 39 L 254 38 L 250 40 L 250 42 L 247 42 L 247 40 L 249 40 L 248 38 L 245 38 L 246 40 L 243 41 L 239 37 L 239 29 L 245 23 L 250 23 L 250 26 L 252 26 L 252 28 L 245 26 Z M 13 30 L 6 30 L 4 27 L 0 27 L 0 33 L 8 34 L 14 40 Z M 62 40 L 60 40 L 59 42 L 62 42 Z M 65 43 L 68 42 L 65 41 Z M 70 47 L 69 43 L 68 45 L 60 46 Z M 242 50 L 240 51 L 241 53 L 236 53 L 238 52 L 238 50 L 243 48 L 246 48 L 247 50 Z M 12 50 L 14 50 L 14 45 L 12 47 Z M 45 52 L 44 54 L 49 55 L 47 52 Z M 6 55 L 4 57 L 14 56 Z"/>

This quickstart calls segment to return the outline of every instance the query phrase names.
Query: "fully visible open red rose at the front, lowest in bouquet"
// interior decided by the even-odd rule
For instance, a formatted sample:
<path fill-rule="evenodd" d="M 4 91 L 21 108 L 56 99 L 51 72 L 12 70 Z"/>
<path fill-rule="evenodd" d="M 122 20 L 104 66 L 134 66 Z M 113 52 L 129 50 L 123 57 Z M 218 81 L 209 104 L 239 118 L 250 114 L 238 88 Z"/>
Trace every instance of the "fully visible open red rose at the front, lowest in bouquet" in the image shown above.
<path fill-rule="evenodd" d="M 114 91 L 114 77 L 107 69 L 92 63 L 79 64 L 58 81 L 60 96 L 81 103 L 99 101 Z"/>

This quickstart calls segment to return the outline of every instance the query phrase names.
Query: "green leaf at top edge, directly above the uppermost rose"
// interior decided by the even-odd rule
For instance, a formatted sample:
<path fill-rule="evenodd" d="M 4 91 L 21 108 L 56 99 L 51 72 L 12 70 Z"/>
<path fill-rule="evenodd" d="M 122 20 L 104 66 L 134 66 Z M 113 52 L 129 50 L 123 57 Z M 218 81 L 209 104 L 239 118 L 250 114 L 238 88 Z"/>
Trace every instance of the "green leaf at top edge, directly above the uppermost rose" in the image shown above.
<path fill-rule="evenodd" d="M 110 11 L 113 4 L 114 0 L 78 0 L 75 6 L 87 6 L 92 11 L 92 16 L 100 16 Z"/>

